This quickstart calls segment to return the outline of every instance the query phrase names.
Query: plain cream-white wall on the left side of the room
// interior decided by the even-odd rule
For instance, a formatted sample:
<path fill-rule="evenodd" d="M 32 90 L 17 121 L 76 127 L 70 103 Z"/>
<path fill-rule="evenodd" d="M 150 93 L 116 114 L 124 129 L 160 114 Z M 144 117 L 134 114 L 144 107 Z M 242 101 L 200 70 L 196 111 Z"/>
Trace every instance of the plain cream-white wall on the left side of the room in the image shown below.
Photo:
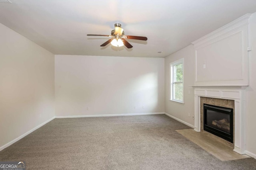
<path fill-rule="evenodd" d="M 0 23 L 0 148 L 52 117 L 54 55 Z"/>

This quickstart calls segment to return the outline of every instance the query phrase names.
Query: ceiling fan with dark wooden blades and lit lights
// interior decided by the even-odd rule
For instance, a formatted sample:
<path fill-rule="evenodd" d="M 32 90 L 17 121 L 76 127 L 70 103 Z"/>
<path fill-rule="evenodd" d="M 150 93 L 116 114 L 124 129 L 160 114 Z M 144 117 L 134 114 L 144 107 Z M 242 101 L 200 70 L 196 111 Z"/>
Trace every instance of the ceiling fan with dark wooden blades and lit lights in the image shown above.
<path fill-rule="evenodd" d="M 106 36 L 106 37 L 112 37 L 112 39 L 109 39 L 102 45 L 101 47 L 104 47 L 111 43 L 115 47 L 121 47 L 125 45 L 128 49 L 132 48 L 132 45 L 126 41 L 126 39 L 138 39 L 147 41 L 147 37 L 140 37 L 140 36 L 134 36 L 134 35 L 124 35 L 124 29 L 121 27 L 120 23 L 115 23 L 115 29 L 111 31 L 111 35 L 97 35 L 97 34 L 87 34 L 88 36 Z"/>

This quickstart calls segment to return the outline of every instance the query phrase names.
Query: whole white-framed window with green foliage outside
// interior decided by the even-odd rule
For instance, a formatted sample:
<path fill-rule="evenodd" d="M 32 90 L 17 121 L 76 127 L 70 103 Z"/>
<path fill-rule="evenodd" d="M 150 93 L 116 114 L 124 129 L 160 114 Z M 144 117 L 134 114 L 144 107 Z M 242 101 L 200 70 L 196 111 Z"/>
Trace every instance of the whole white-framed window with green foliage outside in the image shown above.
<path fill-rule="evenodd" d="M 184 59 L 170 63 L 170 100 L 184 103 Z"/>

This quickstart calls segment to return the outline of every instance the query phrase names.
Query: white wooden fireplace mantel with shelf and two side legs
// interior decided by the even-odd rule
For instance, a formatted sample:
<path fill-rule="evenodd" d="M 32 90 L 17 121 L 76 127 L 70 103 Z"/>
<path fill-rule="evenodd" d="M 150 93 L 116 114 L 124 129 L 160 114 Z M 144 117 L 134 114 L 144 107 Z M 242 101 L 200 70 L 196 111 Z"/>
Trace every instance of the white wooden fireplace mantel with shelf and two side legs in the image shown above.
<path fill-rule="evenodd" d="M 195 128 L 200 132 L 200 97 L 234 100 L 234 151 L 245 154 L 245 106 L 247 86 L 192 86 L 195 95 Z"/>

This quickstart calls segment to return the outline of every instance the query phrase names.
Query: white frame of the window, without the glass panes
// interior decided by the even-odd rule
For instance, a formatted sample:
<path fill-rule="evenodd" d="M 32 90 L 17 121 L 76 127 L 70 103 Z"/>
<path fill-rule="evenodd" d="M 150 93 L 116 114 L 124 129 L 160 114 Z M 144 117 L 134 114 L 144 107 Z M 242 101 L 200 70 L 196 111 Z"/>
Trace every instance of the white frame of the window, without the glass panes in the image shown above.
<path fill-rule="evenodd" d="M 177 64 L 182 63 L 182 100 L 176 100 L 174 99 L 174 66 Z M 178 103 L 184 104 L 184 58 L 176 60 L 172 63 L 170 63 L 170 100 Z"/>

